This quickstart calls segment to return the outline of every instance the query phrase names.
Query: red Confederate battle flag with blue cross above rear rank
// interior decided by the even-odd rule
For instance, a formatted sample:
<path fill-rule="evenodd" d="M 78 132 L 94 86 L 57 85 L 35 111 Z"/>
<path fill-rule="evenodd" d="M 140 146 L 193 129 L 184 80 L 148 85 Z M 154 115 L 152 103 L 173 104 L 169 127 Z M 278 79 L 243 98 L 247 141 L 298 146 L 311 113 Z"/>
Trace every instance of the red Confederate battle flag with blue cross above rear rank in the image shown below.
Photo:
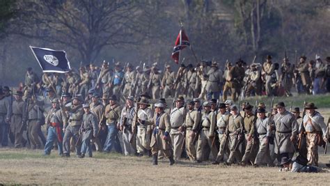
<path fill-rule="evenodd" d="M 172 59 L 174 59 L 175 63 L 177 63 L 177 64 L 179 63 L 180 50 L 184 49 L 185 47 L 189 47 L 189 46 L 190 46 L 189 38 L 182 27 L 180 29 L 178 38 L 176 38 L 176 40 L 175 40 L 175 46 L 174 46 L 173 52 L 172 52 Z"/>

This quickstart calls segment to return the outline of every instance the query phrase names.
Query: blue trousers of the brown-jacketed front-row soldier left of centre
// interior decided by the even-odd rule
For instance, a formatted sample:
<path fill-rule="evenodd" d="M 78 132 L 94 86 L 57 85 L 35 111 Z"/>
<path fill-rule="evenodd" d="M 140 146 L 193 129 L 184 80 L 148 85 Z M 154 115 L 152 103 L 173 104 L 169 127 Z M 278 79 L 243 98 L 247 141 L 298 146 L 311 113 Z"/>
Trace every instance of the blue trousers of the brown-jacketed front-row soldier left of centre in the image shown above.
<path fill-rule="evenodd" d="M 108 136 L 107 141 L 105 141 L 103 151 L 110 152 L 114 146 L 117 153 L 121 153 L 120 142 L 118 138 L 118 129 L 116 125 L 108 125 Z"/>

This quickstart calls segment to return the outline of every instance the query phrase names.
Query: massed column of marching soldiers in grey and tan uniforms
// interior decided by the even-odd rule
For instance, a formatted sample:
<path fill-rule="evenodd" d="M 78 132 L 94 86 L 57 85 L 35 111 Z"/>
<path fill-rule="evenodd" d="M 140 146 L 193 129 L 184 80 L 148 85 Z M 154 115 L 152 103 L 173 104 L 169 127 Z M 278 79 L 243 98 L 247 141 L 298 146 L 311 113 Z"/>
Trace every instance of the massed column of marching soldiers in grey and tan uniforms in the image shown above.
<path fill-rule="evenodd" d="M 282 157 L 292 157 L 297 138 L 302 139 L 299 134 L 305 132 L 306 157 L 317 165 L 316 134 L 322 133 L 324 141 L 327 137 L 324 118 L 313 104 L 306 104 L 308 114 L 299 124 L 299 118 L 287 111 L 283 102 L 272 108 L 277 113 L 267 113 L 261 105 L 253 111 L 249 103 L 239 111 L 239 105 L 233 104 L 245 91 L 244 75 L 248 76 L 248 95 L 260 95 L 262 91 L 276 95 L 276 87 L 283 85 L 287 88 L 285 95 L 290 96 L 288 87 L 300 80 L 301 91 L 313 93 L 312 80 L 319 87 L 329 84 L 328 66 L 317 61 L 318 71 L 313 68 L 315 63 L 306 63 L 305 56 L 301 56 L 297 67 L 285 58 L 280 69 L 272 63 L 272 56 L 267 56 L 265 63 L 253 63 L 246 70 L 239 59 L 234 66 L 227 63 L 224 72 L 216 62 L 203 61 L 196 68 L 182 64 L 176 75 L 166 65 L 164 76 L 157 65 L 134 70 L 129 63 L 125 68 L 120 63 L 113 64 L 113 68 L 102 63 L 100 69 L 92 64 L 81 67 L 79 73 L 72 70 L 66 78 L 44 74 L 41 81 L 29 68 L 25 86 L 13 93 L 15 100 L 9 88 L 0 91 L 1 145 L 8 146 L 8 133 L 12 133 L 15 147 L 45 146 L 45 155 L 56 144 L 64 157 L 70 157 L 72 151 L 78 157 L 92 157 L 95 146 L 106 153 L 116 150 L 125 155 L 149 155 L 153 164 L 159 157 L 168 157 L 173 164 L 187 155 L 194 162 L 212 157 L 214 164 L 272 166 L 274 157 L 278 162 Z M 326 61 L 330 63 L 330 57 Z M 258 82 L 265 82 L 265 90 Z M 47 98 L 38 96 L 44 93 Z M 233 101 L 227 101 L 228 94 Z M 172 107 L 167 107 L 165 99 L 170 96 L 174 101 Z M 162 97 L 165 99 L 159 100 Z M 226 102 L 218 101 L 221 97 Z M 159 101 L 152 105 L 150 98 Z M 297 109 L 294 111 L 297 115 Z M 47 140 L 42 126 L 46 127 Z"/>

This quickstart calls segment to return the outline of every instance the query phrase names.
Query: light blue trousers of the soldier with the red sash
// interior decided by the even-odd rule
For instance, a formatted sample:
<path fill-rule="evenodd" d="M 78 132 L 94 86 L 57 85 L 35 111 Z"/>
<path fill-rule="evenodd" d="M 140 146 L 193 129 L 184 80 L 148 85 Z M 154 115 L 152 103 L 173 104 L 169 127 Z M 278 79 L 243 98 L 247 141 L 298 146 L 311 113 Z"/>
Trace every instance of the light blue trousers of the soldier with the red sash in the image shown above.
<path fill-rule="evenodd" d="M 61 137 L 63 139 L 63 130 L 61 128 Z M 58 139 L 58 134 L 56 132 L 56 127 L 49 127 L 48 128 L 48 135 L 47 135 L 47 141 L 45 144 L 45 155 L 50 155 L 50 151 L 53 148 L 53 144 L 55 139 Z M 58 154 L 61 155 L 63 154 L 63 141 L 57 141 L 57 146 L 58 146 Z"/>

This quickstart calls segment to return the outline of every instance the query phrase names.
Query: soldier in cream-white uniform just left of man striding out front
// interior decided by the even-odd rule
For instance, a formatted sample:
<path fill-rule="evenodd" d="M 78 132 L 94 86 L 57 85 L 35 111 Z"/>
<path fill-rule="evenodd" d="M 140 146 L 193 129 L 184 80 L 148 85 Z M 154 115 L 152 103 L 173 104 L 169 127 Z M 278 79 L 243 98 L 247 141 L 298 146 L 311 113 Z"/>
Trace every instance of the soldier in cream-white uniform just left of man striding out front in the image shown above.
<path fill-rule="evenodd" d="M 151 123 L 153 118 L 153 112 L 150 108 L 150 104 L 146 98 L 141 98 L 139 104 L 139 111 L 137 111 L 137 135 L 136 135 L 136 148 L 139 155 L 143 155 L 144 151 L 147 151 L 148 155 L 151 155 L 150 139 L 151 139 Z M 136 123 L 136 122 L 134 122 Z M 134 126 L 136 127 L 136 126 Z"/>

